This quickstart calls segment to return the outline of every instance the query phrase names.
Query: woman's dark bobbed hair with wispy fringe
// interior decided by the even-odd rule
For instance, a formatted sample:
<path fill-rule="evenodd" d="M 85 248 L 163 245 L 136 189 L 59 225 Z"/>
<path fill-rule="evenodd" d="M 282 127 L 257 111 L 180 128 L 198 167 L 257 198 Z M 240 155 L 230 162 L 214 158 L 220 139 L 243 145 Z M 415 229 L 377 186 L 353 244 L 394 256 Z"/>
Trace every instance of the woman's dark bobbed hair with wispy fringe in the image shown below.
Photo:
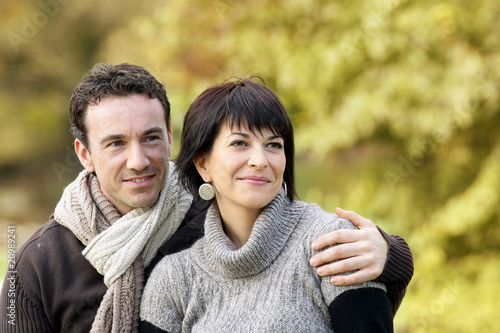
<path fill-rule="evenodd" d="M 204 183 L 193 163 L 194 158 L 208 154 L 219 130 L 230 127 L 262 131 L 269 129 L 284 140 L 286 166 L 283 181 L 290 200 L 296 196 L 294 178 L 293 127 L 280 99 L 264 84 L 248 79 L 234 79 L 202 92 L 189 107 L 184 117 L 181 148 L 176 159 L 179 179 L 199 198 L 198 188 Z"/>

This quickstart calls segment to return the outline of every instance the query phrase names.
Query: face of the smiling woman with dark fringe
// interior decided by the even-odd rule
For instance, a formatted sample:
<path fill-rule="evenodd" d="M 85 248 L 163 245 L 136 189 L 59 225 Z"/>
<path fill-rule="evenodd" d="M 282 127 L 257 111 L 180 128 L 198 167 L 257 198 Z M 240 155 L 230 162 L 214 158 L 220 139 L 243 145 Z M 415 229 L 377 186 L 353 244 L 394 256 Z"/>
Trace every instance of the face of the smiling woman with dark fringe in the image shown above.
<path fill-rule="evenodd" d="M 214 187 L 221 213 L 231 209 L 260 214 L 282 186 L 283 139 L 269 129 L 255 132 L 226 124 L 210 153 L 195 160 L 202 178 Z"/>

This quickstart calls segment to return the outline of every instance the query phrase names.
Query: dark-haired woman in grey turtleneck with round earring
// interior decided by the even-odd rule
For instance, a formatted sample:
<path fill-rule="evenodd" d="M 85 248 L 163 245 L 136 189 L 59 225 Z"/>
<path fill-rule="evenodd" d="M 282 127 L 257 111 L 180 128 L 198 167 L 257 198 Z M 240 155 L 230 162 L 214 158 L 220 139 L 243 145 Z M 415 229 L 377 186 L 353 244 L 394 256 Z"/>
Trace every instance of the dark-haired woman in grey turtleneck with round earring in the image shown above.
<path fill-rule="evenodd" d="M 335 286 L 309 265 L 314 239 L 354 227 L 294 200 L 293 128 L 270 89 L 252 78 L 207 89 L 186 114 L 180 151 L 180 180 L 215 202 L 204 238 L 153 271 L 143 330 L 392 331 L 383 284 Z"/>

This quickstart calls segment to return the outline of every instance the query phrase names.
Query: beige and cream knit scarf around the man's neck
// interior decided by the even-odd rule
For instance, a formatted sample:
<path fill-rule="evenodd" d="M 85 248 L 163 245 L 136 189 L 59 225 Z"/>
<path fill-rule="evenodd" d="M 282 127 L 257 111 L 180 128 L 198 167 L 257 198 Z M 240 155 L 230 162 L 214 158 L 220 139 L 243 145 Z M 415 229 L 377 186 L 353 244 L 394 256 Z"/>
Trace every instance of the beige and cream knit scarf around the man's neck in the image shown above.
<path fill-rule="evenodd" d="M 135 332 L 144 285 L 144 267 L 177 230 L 192 196 L 177 183 L 170 163 L 158 201 L 121 216 L 95 176 L 82 171 L 56 206 L 57 222 L 86 246 L 82 254 L 104 275 L 108 287 L 91 332 Z"/>

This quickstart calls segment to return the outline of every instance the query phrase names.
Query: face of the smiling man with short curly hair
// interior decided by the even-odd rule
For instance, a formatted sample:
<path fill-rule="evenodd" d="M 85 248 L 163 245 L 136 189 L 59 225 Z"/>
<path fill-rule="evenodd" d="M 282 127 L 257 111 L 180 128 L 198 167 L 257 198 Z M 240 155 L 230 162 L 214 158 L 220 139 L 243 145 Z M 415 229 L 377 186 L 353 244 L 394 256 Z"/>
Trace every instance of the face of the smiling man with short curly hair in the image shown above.
<path fill-rule="evenodd" d="M 106 97 L 85 117 L 88 147 L 76 139 L 75 150 L 104 195 L 122 215 L 154 204 L 172 150 L 160 101 L 143 94 Z"/>

